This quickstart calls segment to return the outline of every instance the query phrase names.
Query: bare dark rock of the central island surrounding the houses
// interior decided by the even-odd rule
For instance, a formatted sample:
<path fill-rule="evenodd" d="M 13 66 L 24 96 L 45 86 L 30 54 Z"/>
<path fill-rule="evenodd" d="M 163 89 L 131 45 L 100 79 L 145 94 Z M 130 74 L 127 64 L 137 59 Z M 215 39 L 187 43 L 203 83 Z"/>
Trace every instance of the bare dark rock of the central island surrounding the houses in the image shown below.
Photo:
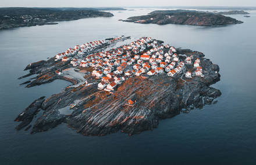
<path fill-rule="evenodd" d="M 129 37 L 123 37 L 125 41 Z M 162 44 L 162 41 L 157 41 Z M 115 43 L 111 43 L 112 45 Z M 111 45 L 106 43 L 84 54 L 101 52 Z M 146 50 L 150 50 L 149 46 Z M 163 52 L 169 48 L 163 48 Z M 33 81 L 27 82 L 27 87 L 52 82 L 55 79 L 65 79 L 73 85 L 67 86 L 64 91 L 49 98 L 38 98 L 15 119 L 20 123 L 16 129 L 27 127 L 31 134 L 53 129 L 61 123 L 77 130 L 83 135 L 106 135 L 122 131 L 129 135 L 153 130 L 158 127 L 159 120 L 172 118 L 180 112 L 189 112 L 194 108 L 203 108 L 212 104 L 215 98 L 221 96 L 221 91 L 211 87 L 220 80 L 219 67 L 211 60 L 205 58 L 201 52 L 189 49 L 176 49 L 180 60 L 193 56 L 200 60 L 204 76 L 186 78 L 183 73 L 173 77 L 167 74 L 147 76 L 131 76 L 115 91 L 98 90 L 98 79 L 91 75 L 90 68 L 76 67 L 75 71 L 83 70 L 84 80 L 55 74 L 56 69 L 65 70 L 73 68 L 70 61 L 67 63 L 55 60 L 38 61 L 27 65 L 30 74 L 38 74 Z M 123 53 L 125 54 L 125 53 Z M 131 54 L 133 57 L 134 54 Z M 186 70 L 193 71 L 193 65 L 186 65 Z M 21 78 L 26 78 L 23 76 Z M 126 106 L 131 98 L 136 98 L 133 106 Z M 70 105 L 72 108 L 70 108 Z M 38 112 L 43 112 L 34 123 L 30 122 Z"/>

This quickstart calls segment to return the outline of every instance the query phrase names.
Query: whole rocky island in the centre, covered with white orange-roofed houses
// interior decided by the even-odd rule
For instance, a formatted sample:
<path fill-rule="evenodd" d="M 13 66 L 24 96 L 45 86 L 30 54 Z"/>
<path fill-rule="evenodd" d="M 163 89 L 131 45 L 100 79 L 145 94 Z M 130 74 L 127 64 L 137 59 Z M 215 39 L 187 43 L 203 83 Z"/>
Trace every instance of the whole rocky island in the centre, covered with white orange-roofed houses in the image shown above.
<path fill-rule="evenodd" d="M 30 73 L 20 79 L 37 76 L 26 87 L 55 79 L 73 85 L 32 102 L 15 119 L 21 122 L 16 129 L 32 127 L 33 134 L 66 123 L 83 135 L 132 135 L 156 128 L 161 119 L 215 103 L 221 96 L 211 87 L 220 80 L 219 66 L 203 53 L 150 37 L 130 40 L 120 36 L 87 42 L 27 65 Z M 126 43 L 116 47 L 118 42 Z"/>

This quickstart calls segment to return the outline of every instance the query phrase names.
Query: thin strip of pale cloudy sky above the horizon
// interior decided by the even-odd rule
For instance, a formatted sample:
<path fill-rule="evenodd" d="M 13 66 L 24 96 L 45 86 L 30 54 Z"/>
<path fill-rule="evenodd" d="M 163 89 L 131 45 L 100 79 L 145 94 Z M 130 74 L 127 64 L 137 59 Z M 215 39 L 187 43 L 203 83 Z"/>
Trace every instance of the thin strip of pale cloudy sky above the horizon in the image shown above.
<path fill-rule="evenodd" d="M 0 7 L 256 6 L 256 0 L 0 0 Z"/>

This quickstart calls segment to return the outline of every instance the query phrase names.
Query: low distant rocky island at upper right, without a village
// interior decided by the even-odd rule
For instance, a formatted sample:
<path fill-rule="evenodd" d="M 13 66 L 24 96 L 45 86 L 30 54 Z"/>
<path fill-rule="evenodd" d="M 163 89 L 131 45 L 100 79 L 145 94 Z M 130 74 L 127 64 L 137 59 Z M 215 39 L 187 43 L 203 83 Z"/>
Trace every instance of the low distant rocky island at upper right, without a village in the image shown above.
<path fill-rule="evenodd" d="M 197 26 L 214 26 L 241 24 L 242 21 L 221 14 L 199 12 L 196 10 L 156 10 L 145 16 L 129 17 L 122 20 L 141 24 L 183 24 Z"/>

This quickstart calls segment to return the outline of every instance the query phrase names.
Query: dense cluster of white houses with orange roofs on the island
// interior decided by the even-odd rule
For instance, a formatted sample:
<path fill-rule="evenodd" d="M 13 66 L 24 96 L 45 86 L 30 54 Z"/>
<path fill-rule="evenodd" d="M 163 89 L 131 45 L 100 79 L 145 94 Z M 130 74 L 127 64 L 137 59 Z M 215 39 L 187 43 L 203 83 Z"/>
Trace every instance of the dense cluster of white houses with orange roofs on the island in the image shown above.
<path fill-rule="evenodd" d="M 121 38 L 115 38 L 110 42 Z M 93 47 L 104 43 L 106 41 L 77 45 L 74 49 L 68 49 L 64 54 L 57 54 L 56 59 L 62 58 L 62 61 L 65 61 L 65 57 L 69 58 L 69 54 L 91 51 Z M 82 59 L 73 58 L 70 63 L 74 67 L 79 65 L 80 68 L 93 68 L 91 74 L 95 76 L 95 79 L 101 80 L 98 83 L 98 89 L 111 91 L 131 76 L 140 76 L 141 74 L 152 76 L 163 73 L 175 76 L 184 73 L 186 65 L 193 64 L 193 56 L 187 57 L 183 61 L 176 54 L 175 47 L 164 46 L 155 39 L 144 37 L 116 49 L 90 54 Z M 197 58 L 194 61 L 194 68 L 196 69 L 194 75 L 202 76 L 200 59 Z M 192 75 L 191 71 L 187 71 L 185 74 L 186 78 L 192 78 Z"/>

